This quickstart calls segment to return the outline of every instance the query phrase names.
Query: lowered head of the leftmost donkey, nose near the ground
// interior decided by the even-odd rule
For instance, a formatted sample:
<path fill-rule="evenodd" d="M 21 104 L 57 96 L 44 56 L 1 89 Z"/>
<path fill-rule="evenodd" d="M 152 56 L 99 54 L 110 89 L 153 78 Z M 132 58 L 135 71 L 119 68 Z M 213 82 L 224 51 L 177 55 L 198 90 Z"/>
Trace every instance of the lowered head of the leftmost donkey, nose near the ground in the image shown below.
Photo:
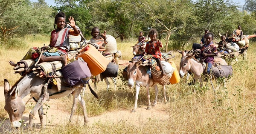
<path fill-rule="evenodd" d="M 10 88 L 8 80 L 4 80 L 4 97 L 6 102 L 4 109 L 9 114 L 12 126 L 15 128 L 20 127 L 20 120 L 25 111 L 25 104 L 22 99 L 18 97 L 19 91 L 19 86 Z"/>

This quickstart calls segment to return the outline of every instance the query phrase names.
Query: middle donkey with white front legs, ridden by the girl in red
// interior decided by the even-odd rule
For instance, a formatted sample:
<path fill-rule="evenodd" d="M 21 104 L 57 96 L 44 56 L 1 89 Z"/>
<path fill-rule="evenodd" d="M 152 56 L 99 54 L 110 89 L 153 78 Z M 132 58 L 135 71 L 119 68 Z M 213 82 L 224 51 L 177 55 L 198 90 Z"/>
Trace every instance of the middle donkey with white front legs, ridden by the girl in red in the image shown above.
<path fill-rule="evenodd" d="M 132 88 L 134 86 L 134 82 L 136 83 L 135 104 L 134 104 L 134 109 L 132 109 L 132 112 L 135 112 L 137 108 L 137 101 L 138 101 L 138 96 L 140 92 L 140 86 L 145 86 L 147 90 L 147 97 L 148 97 L 147 110 L 151 108 L 149 86 L 154 87 L 155 100 L 154 100 L 153 106 L 155 106 L 157 104 L 157 96 L 158 96 L 157 82 L 155 82 L 153 79 L 149 79 L 148 73 L 145 70 L 145 67 L 142 66 L 142 61 L 133 60 L 131 63 L 129 63 L 127 72 L 128 72 L 128 87 Z M 164 102 L 166 103 L 167 101 L 166 101 L 165 85 L 163 85 L 163 93 L 164 93 Z"/>

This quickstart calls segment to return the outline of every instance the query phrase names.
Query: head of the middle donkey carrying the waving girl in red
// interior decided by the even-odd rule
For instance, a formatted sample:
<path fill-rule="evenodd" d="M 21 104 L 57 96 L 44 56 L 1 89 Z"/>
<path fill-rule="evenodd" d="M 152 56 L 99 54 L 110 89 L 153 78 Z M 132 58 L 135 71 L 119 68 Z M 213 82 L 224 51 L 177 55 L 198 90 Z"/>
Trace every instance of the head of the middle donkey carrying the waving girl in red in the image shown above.
<path fill-rule="evenodd" d="M 142 61 L 132 61 L 127 68 L 128 72 L 128 87 L 132 88 L 134 86 L 134 82 L 138 76 L 139 66 L 142 65 Z"/>

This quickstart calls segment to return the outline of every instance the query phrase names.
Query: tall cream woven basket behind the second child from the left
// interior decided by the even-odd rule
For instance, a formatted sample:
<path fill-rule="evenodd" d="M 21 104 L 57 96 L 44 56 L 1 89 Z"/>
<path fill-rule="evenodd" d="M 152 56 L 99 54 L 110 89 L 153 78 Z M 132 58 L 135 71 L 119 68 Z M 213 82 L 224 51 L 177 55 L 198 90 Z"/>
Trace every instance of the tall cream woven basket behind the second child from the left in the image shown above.
<path fill-rule="evenodd" d="M 107 34 L 106 37 L 107 37 L 108 44 L 106 45 L 105 53 L 109 53 L 109 54 L 116 53 L 117 51 L 116 39 L 109 34 Z"/>

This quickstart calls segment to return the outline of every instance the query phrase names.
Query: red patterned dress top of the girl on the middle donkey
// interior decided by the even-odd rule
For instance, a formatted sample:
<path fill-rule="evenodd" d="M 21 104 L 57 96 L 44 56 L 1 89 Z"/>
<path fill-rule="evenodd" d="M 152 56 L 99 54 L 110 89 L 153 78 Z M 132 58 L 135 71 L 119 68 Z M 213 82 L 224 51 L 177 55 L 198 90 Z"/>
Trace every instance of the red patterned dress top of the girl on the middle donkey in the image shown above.
<path fill-rule="evenodd" d="M 153 44 L 152 44 L 153 43 Z M 146 44 L 145 52 L 147 54 L 152 55 L 154 58 L 160 58 L 161 59 L 161 52 L 160 52 L 160 47 L 163 47 L 162 43 L 159 43 L 159 41 L 148 41 Z"/>

